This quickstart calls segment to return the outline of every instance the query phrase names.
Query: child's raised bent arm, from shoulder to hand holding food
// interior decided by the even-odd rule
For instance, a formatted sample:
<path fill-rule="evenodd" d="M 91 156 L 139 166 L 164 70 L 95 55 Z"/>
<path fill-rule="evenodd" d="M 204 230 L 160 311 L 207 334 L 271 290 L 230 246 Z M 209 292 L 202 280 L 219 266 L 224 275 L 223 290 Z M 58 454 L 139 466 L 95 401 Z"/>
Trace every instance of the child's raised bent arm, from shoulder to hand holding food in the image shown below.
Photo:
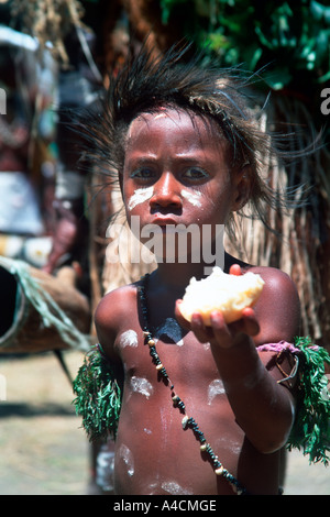
<path fill-rule="evenodd" d="M 191 330 L 201 342 L 209 341 L 238 424 L 254 447 L 264 453 L 278 450 L 287 441 L 295 400 L 279 385 L 277 369 L 268 372 L 270 353 L 261 356 L 256 344 L 289 341 L 298 333 L 299 301 L 289 277 L 276 270 L 258 271 L 266 283 L 255 308 L 227 326 L 221 314 L 212 315 L 212 327 L 205 328 L 195 315 Z M 289 373 L 290 365 L 282 364 Z"/>

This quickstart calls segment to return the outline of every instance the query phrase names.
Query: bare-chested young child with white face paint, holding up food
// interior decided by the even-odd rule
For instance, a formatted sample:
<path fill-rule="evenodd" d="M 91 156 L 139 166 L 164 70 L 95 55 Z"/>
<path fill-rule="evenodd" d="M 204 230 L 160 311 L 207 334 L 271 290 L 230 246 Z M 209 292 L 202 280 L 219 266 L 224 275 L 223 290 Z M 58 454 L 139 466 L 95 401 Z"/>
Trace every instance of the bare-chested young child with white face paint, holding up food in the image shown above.
<path fill-rule="evenodd" d="M 143 53 L 118 77 L 98 128 L 98 153 L 118 174 L 129 223 L 161 228 L 163 256 L 141 280 L 103 297 L 96 315 L 102 354 L 123 388 L 116 437 L 114 493 L 278 494 L 280 452 L 295 418 L 294 358 L 258 351 L 293 342 L 299 300 L 290 278 L 224 253 L 224 272 L 258 273 L 253 309 L 226 324 L 215 311 L 184 321 L 179 302 L 206 264 L 178 250 L 166 261 L 166 231 L 215 229 L 250 202 L 262 217 L 272 193 L 260 175 L 258 132 L 237 77 L 187 65 L 179 53 Z M 261 147 L 263 145 L 263 148 Z M 167 250 L 168 252 L 168 250 Z M 277 367 L 278 366 L 278 367 Z M 292 374 L 292 375 L 290 375 Z"/>

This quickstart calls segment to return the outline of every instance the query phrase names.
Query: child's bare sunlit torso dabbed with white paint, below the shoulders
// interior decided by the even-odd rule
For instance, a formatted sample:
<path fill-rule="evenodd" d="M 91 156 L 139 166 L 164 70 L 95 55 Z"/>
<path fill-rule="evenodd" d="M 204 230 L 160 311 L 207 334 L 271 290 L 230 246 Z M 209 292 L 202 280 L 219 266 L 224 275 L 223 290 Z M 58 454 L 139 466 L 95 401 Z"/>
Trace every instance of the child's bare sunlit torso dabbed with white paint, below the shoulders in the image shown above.
<path fill-rule="evenodd" d="M 212 462 L 200 447 L 204 440 L 210 442 L 215 454 L 234 470 L 233 450 L 241 449 L 243 437 L 238 432 L 209 344 L 197 342 L 189 333 L 173 342 L 165 336 L 155 338 L 158 358 L 168 375 L 164 377 L 143 336 L 136 339 L 136 334 L 130 329 L 120 340 L 125 378 L 118 480 L 124 486 L 129 484 L 131 491 L 152 493 L 156 483 L 155 493 L 183 490 L 188 494 L 198 493 L 195 483 L 200 490 L 201 476 L 202 493 L 217 492 Z M 195 425 L 190 425 L 193 420 L 188 422 L 189 418 Z M 128 474 L 129 459 L 130 472 L 134 465 L 139 476 Z"/>

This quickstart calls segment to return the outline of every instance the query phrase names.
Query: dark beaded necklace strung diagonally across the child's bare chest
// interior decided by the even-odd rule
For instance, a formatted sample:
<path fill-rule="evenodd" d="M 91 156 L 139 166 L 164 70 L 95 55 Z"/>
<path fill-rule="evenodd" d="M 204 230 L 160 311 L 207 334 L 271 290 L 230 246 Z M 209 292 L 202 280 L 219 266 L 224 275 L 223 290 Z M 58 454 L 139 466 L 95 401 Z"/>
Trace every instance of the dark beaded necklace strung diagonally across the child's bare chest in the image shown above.
<path fill-rule="evenodd" d="M 142 277 L 141 284 L 139 286 L 139 296 L 140 296 L 140 304 L 141 304 L 142 316 L 143 316 L 144 344 L 148 345 L 148 351 L 152 358 L 152 362 L 155 364 L 156 371 L 162 376 L 163 382 L 169 386 L 173 406 L 179 409 L 179 411 L 184 415 L 183 420 L 182 420 L 183 429 L 193 430 L 195 437 L 200 443 L 200 451 L 208 454 L 210 463 L 215 471 L 215 474 L 219 476 L 221 475 L 222 477 L 224 477 L 230 483 L 234 492 L 237 492 L 239 495 L 248 495 L 245 487 L 242 486 L 241 483 L 219 461 L 211 446 L 207 442 L 207 439 L 204 432 L 199 429 L 197 421 L 193 417 L 188 417 L 186 413 L 185 403 L 175 392 L 174 384 L 170 382 L 167 371 L 160 359 L 158 352 L 156 350 L 156 343 L 150 331 L 150 324 L 148 324 L 148 309 L 147 309 L 147 298 L 146 298 L 148 277 L 150 277 L 148 273 Z"/>

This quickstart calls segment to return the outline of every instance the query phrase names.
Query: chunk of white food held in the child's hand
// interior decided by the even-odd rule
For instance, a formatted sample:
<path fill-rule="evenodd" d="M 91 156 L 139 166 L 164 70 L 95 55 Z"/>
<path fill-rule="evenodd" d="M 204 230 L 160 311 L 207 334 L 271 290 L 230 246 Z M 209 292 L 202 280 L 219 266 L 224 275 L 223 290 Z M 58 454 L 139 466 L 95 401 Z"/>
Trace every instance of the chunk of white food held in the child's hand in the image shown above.
<path fill-rule="evenodd" d="M 191 321 L 194 312 L 199 312 L 206 326 L 210 324 L 211 312 L 220 310 L 224 321 L 231 323 L 242 317 L 243 309 L 256 302 L 263 286 L 264 280 L 257 274 L 228 275 L 216 266 L 206 278 L 190 279 L 179 309 L 187 321 Z"/>

